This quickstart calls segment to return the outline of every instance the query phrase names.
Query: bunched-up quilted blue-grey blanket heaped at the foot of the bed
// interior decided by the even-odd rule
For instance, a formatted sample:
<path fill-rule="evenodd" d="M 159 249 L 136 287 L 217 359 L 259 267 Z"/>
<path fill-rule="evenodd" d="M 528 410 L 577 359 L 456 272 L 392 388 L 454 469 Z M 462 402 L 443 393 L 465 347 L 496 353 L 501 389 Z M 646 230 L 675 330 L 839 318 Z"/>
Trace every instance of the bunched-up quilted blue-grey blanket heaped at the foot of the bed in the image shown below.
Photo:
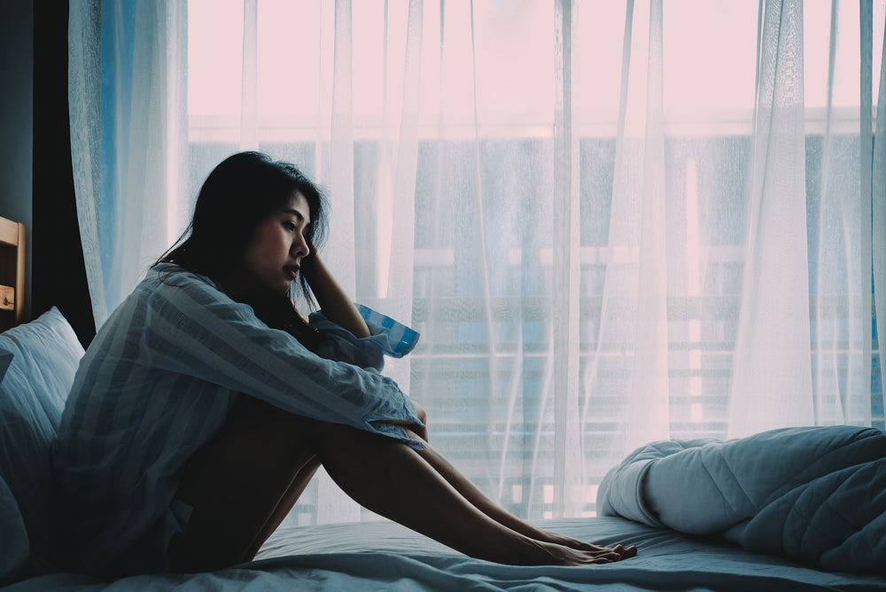
<path fill-rule="evenodd" d="M 603 516 L 839 572 L 886 572 L 886 434 L 836 425 L 662 440 L 602 480 Z"/>

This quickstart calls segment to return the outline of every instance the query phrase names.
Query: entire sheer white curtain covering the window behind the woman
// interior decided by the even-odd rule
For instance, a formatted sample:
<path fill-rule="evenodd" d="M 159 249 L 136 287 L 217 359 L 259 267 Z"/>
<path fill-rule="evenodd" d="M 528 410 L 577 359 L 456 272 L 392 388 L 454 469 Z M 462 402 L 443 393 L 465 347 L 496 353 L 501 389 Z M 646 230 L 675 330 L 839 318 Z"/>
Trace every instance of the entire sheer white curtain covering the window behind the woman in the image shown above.
<path fill-rule="evenodd" d="M 97 322 L 258 148 L 328 188 L 337 276 L 423 334 L 388 371 L 517 514 L 593 514 L 648 440 L 882 427 L 883 15 L 72 0 Z M 366 518 L 318 481 L 293 522 Z"/>

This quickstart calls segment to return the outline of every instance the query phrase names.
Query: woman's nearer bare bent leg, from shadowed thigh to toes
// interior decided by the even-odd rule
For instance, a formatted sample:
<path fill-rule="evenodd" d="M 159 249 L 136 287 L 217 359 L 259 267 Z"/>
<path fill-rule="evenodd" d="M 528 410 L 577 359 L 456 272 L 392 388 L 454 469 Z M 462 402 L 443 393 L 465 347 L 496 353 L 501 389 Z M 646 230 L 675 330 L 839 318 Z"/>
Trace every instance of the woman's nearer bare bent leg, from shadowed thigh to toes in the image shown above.
<path fill-rule="evenodd" d="M 402 442 L 256 402 L 186 464 L 178 495 L 194 510 L 188 533 L 170 543 L 171 568 L 206 571 L 252 559 L 307 485 L 316 459 L 364 507 L 471 557 L 516 565 L 622 557 L 614 549 L 534 540 L 501 524 Z"/>

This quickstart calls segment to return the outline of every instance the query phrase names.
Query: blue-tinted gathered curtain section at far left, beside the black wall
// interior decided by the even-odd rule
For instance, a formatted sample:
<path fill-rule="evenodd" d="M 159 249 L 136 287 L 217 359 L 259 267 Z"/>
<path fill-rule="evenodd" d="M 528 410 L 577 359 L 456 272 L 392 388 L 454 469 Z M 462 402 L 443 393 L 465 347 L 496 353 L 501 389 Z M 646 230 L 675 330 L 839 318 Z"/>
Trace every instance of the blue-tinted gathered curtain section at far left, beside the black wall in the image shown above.
<path fill-rule="evenodd" d="M 185 6 L 71 3 L 74 186 L 97 327 L 174 238 L 188 152 Z"/>

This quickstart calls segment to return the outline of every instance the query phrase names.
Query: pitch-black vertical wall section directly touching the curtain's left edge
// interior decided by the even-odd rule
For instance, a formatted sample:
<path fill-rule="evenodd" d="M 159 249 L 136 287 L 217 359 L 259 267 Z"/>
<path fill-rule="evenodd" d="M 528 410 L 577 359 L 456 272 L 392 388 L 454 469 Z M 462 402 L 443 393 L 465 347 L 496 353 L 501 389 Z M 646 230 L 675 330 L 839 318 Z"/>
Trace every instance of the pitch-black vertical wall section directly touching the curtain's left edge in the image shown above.
<path fill-rule="evenodd" d="M 38 2 L 34 20 L 34 198 L 31 306 L 57 306 L 84 346 L 95 337 L 71 167 L 67 2 Z M 50 7 L 52 10 L 41 10 Z"/>

